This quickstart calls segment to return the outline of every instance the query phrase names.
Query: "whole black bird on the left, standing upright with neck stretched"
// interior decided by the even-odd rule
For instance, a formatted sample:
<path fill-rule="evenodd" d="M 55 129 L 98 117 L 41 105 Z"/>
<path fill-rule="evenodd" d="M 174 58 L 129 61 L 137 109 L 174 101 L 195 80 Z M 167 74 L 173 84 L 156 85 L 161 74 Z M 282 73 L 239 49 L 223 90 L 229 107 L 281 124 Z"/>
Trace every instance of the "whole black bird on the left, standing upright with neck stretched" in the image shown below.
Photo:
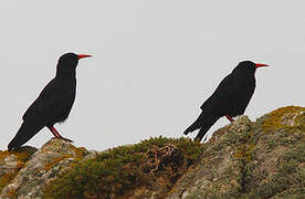
<path fill-rule="evenodd" d="M 45 126 L 56 138 L 72 142 L 62 137 L 54 124 L 67 118 L 75 100 L 76 65 L 78 60 L 88 56 L 91 55 L 66 53 L 60 57 L 55 77 L 24 113 L 21 127 L 9 143 L 9 150 L 22 146 Z"/>

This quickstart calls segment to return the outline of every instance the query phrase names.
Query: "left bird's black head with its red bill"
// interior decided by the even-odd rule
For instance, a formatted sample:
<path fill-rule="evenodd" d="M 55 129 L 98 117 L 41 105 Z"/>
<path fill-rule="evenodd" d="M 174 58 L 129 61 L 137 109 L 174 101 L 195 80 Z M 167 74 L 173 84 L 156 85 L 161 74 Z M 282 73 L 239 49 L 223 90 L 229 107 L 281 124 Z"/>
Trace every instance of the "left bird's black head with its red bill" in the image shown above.
<path fill-rule="evenodd" d="M 75 73 L 76 65 L 78 60 L 84 57 L 90 57 L 92 55 L 87 54 L 75 54 L 75 53 L 65 53 L 63 54 L 57 63 L 57 74 L 64 73 Z"/>

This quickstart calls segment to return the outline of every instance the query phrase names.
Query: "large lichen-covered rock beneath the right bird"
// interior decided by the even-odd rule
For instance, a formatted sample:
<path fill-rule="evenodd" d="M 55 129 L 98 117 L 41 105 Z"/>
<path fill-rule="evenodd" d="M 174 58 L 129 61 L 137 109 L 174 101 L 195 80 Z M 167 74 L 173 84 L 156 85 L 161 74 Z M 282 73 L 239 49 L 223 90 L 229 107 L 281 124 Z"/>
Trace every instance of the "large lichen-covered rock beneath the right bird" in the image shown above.
<path fill-rule="evenodd" d="M 217 130 L 168 198 L 305 198 L 305 108 L 278 108 Z"/>

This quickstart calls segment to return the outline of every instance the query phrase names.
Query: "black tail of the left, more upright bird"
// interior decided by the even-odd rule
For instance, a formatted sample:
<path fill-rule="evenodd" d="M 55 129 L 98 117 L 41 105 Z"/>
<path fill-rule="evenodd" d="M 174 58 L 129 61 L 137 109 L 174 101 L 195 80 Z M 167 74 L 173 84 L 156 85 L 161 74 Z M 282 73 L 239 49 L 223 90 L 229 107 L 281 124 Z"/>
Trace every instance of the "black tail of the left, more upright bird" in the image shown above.
<path fill-rule="evenodd" d="M 13 137 L 13 139 L 9 143 L 9 150 L 13 148 L 18 148 L 30 140 L 39 130 L 41 130 L 43 126 L 38 126 L 30 123 L 22 123 L 18 133 Z"/>

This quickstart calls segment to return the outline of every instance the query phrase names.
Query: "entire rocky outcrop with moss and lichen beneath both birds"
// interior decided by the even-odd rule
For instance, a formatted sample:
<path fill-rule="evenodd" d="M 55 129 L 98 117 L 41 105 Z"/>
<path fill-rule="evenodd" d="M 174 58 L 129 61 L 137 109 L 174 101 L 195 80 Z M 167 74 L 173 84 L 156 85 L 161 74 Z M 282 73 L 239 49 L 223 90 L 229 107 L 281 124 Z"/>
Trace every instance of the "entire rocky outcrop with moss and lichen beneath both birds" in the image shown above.
<path fill-rule="evenodd" d="M 51 139 L 0 151 L 0 198 L 52 198 L 54 181 L 64 198 L 305 198 L 304 160 L 305 108 L 288 106 L 240 116 L 202 145 L 152 138 L 96 153 Z"/>

